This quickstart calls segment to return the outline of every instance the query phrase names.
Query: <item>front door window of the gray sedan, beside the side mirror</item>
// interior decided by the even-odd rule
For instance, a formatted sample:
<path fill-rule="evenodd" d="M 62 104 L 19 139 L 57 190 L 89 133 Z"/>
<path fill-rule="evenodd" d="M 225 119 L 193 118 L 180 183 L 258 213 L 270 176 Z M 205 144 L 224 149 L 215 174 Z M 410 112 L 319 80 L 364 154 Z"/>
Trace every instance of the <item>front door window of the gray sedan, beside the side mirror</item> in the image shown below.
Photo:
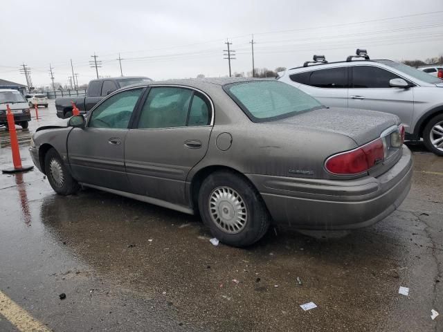
<path fill-rule="evenodd" d="M 143 89 L 122 91 L 94 109 L 88 127 L 126 129 Z"/>

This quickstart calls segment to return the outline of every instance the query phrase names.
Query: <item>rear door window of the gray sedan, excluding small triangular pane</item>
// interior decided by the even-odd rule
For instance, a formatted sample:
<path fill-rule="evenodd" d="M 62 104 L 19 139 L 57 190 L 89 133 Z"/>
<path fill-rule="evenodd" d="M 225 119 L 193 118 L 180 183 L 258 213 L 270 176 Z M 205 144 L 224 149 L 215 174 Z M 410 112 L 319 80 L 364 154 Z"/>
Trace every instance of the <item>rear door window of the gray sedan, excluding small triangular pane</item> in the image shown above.
<path fill-rule="evenodd" d="M 185 127 L 191 98 L 190 89 L 152 88 L 141 111 L 138 128 Z"/>

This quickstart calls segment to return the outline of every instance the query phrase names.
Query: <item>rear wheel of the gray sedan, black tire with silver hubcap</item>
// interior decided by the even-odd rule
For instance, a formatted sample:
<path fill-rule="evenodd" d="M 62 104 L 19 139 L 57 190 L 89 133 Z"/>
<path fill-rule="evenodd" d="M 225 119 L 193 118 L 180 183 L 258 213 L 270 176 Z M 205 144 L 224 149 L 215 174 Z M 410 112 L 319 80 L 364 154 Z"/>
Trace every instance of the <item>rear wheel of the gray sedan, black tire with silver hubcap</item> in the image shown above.
<path fill-rule="evenodd" d="M 224 215 L 227 216 L 228 219 L 237 218 L 239 215 L 235 212 L 233 205 L 228 203 L 228 199 L 226 199 L 226 201 L 219 199 L 220 203 L 217 205 L 218 208 L 210 209 L 210 206 L 213 206 L 210 205 L 211 195 L 213 192 L 220 190 L 226 190 L 226 194 L 230 196 L 239 196 L 239 213 L 242 215 L 246 214 L 244 217 L 246 221 L 241 227 L 235 229 L 233 225 L 229 224 L 229 221 L 228 223 L 224 223 L 221 221 L 221 218 L 213 217 L 211 214 L 211 211 L 217 214 L 221 212 L 221 208 L 226 208 Z M 230 190 L 232 192 L 230 192 Z M 213 196 L 213 199 L 215 199 L 215 196 Z M 213 201 L 211 201 L 211 204 L 213 204 Z M 231 208 L 233 209 L 231 210 Z M 217 237 L 217 239 L 223 243 L 235 247 L 250 246 L 257 242 L 266 233 L 271 223 L 271 216 L 255 187 L 243 176 L 230 171 L 215 172 L 203 181 L 199 191 L 199 212 L 201 219 L 203 219 L 205 225 L 210 228 L 210 232 L 214 237 Z M 221 214 L 217 215 L 221 217 Z M 216 218 L 219 222 L 216 221 Z"/>

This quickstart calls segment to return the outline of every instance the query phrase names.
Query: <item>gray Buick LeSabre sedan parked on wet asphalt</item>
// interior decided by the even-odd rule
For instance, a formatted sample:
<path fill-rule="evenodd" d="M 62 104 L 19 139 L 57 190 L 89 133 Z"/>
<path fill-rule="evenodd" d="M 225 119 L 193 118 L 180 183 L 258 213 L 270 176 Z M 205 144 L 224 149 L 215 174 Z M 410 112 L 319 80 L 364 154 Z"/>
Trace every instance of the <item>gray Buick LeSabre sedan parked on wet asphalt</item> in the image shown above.
<path fill-rule="evenodd" d="M 388 216 L 410 189 L 397 116 L 324 107 L 275 80 L 147 82 L 63 126 L 30 154 L 57 194 L 81 186 L 200 214 L 232 246 L 273 223 L 350 230 Z"/>

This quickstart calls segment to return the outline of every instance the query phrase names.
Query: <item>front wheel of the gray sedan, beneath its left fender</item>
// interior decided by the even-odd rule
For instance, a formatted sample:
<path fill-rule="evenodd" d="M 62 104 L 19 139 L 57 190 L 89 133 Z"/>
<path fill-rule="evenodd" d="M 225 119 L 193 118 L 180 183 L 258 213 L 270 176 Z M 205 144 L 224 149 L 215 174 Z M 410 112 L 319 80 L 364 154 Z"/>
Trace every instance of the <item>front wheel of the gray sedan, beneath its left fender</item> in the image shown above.
<path fill-rule="evenodd" d="M 64 165 L 62 158 L 53 148 L 49 149 L 44 156 L 44 170 L 49 184 L 57 194 L 67 196 L 80 190 L 80 185 L 73 179 L 68 167 Z"/>

